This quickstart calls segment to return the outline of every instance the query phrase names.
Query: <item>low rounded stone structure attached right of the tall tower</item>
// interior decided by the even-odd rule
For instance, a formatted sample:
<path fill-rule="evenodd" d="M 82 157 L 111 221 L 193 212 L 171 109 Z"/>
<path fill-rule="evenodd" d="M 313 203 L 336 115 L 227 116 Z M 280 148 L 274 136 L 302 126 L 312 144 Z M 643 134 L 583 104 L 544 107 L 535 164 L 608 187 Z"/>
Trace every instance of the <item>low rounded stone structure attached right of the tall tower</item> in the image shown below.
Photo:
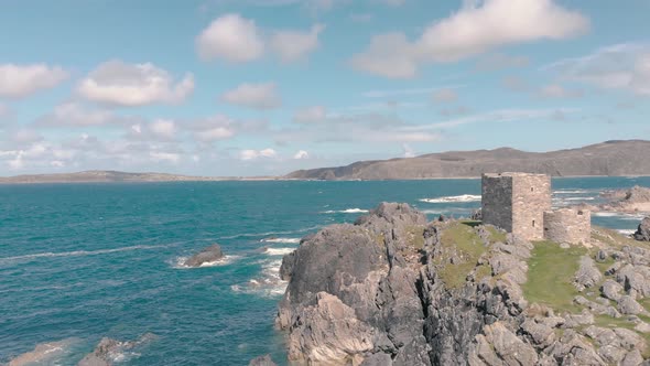
<path fill-rule="evenodd" d="M 544 213 L 544 238 L 556 243 L 587 244 L 592 234 L 592 213 L 562 208 Z"/>

